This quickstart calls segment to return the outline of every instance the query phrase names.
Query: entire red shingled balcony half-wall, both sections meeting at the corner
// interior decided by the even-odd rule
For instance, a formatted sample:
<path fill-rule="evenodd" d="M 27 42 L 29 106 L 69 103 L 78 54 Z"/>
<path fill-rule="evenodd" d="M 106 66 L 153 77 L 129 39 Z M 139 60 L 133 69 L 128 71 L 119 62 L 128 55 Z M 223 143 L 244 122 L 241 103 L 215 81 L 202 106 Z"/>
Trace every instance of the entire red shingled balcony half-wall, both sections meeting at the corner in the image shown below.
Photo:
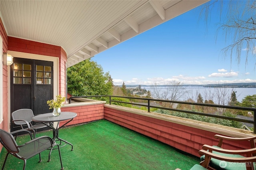
<path fill-rule="evenodd" d="M 202 149 L 204 144 L 217 145 L 218 140 L 214 138 L 214 135 L 226 135 L 224 133 L 216 133 L 203 128 L 195 128 L 189 125 L 184 125 L 187 119 L 182 119 L 182 123 L 174 123 L 172 119 L 176 119 L 172 116 L 172 119 L 168 119 L 169 115 L 152 114 L 146 111 L 138 109 L 130 109 L 126 107 L 104 105 L 100 104 L 87 104 L 79 106 L 65 105 L 61 108 L 61 111 L 70 111 L 77 113 L 77 116 L 70 121 L 67 125 L 76 125 L 79 123 L 86 123 L 94 120 L 106 119 L 112 121 L 118 125 L 122 125 L 128 129 L 134 130 L 138 133 L 152 137 L 158 141 L 166 143 L 176 149 L 180 149 L 194 156 L 199 156 L 198 151 Z M 132 110 L 132 111 L 131 111 Z M 67 121 L 61 121 L 60 126 L 64 125 Z M 195 121 L 195 125 L 199 121 Z M 212 124 L 208 127 L 211 128 Z M 210 129 L 208 128 L 208 129 Z M 212 128 L 213 129 L 213 128 Z M 233 129 L 230 128 L 230 131 Z M 240 131 L 243 131 L 240 129 Z M 238 134 L 239 135 L 239 134 Z M 240 134 L 241 135 L 241 134 Z M 242 134 L 246 135 L 246 134 Z M 239 137 L 239 136 L 237 136 Z M 249 149 L 249 141 L 223 141 L 222 147 L 225 149 Z"/>

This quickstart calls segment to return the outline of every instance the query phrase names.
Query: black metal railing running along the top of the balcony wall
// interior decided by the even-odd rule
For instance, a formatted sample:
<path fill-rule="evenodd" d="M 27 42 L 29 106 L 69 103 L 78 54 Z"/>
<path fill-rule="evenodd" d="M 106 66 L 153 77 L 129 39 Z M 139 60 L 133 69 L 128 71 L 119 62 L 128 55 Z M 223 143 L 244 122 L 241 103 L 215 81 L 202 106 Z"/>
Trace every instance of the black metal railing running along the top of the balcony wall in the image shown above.
<path fill-rule="evenodd" d="M 183 113 L 190 113 L 195 115 L 203 115 L 208 117 L 216 117 L 220 119 L 227 119 L 232 121 L 240 121 L 244 123 L 252 123 L 253 124 L 253 133 L 256 133 L 256 108 L 253 107 L 241 107 L 241 106 L 226 106 L 226 105 L 216 105 L 216 104 L 204 104 L 204 103 L 195 103 L 195 102 L 181 102 L 181 101 L 172 101 L 172 100 L 159 100 L 159 99 L 151 99 L 151 98 L 136 98 L 136 97 L 124 97 L 124 96 L 109 96 L 109 95 L 101 95 L 101 96 L 72 96 L 69 98 L 69 103 L 71 102 L 72 98 L 97 98 L 97 97 L 109 97 L 109 104 L 111 105 L 111 102 L 117 102 L 117 103 L 124 103 L 124 104 L 131 104 L 136 106 L 144 106 L 148 107 L 148 112 L 150 112 L 150 108 L 157 108 L 157 109 L 166 109 L 171 111 L 178 111 Z M 111 98 L 127 98 L 127 99 L 138 99 L 138 100 L 146 100 L 147 104 L 139 104 L 139 103 L 131 103 L 131 102 L 123 102 L 118 100 L 112 100 Z M 208 107 L 217 107 L 217 108 L 226 108 L 226 109 L 236 109 L 236 110 L 244 110 L 244 111 L 252 111 L 253 112 L 253 120 L 248 119 L 242 119 L 237 117 L 228 117 L 223 115 L 215 115 L 215 114 L 208 114 L 208 113 L 201 113 L 198 111 L 190 111 L 190 110 L 181 110 L 181 109 L 174 109 L 169 107 L 160 107 L 160 106 L 152 106 L 150 105 L 150 101 L 155 102 L 167 102 L 167 103 L 175 103 L 175 104 L 188 104 L 188 105 L 196 105 L 196 106 L 208 106 Z"/>

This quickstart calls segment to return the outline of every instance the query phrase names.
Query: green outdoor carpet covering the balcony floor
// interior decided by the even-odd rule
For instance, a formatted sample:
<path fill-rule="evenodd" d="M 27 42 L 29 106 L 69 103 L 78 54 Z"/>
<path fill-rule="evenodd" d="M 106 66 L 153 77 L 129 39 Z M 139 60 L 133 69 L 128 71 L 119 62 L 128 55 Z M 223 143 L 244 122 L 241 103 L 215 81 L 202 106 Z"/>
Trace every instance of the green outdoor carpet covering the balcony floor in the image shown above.
<path fill-rule="evenodd" d="M 72 151 L 70 145 L 60 149 L 65 170 L 189 170 L 200 162 L 199 158 L 104 119 L 63 128 L 59 133 L 60 138 L 74 145 Z M 37 137 L 42 135 L 52 137 L 52 131 L 37 133 Z M 18 145 L 28 140 L 28 135 L 16 139 Z M 0 168 L 6 153 L 2 149 Z M 60 169 L 58 150 L 52 151 L 50 162 L 48 153 L 48 150 L 42 152 L 40 163 L 38 155 L 28 159 L 26 170 Z M 22 160 L 8 156 L 6 170 L 22 170 L 22 167 Z"/>

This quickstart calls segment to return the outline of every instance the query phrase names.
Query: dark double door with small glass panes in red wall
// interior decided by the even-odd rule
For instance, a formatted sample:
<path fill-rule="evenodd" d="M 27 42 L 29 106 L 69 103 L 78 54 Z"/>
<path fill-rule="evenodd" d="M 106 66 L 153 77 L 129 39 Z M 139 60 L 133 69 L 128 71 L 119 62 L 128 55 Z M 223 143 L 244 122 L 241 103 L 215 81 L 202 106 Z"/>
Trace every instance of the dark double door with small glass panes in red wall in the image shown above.
<path fill-rule="evenodd" d="M 10 112 L 27 108 L 32 109 L 34 115 L 49 113 L 46 101 L 53 98 L 53 62 L 15 57 L 13 61 Z M 18 129 L 11 122 L 11 131 Z"/>

